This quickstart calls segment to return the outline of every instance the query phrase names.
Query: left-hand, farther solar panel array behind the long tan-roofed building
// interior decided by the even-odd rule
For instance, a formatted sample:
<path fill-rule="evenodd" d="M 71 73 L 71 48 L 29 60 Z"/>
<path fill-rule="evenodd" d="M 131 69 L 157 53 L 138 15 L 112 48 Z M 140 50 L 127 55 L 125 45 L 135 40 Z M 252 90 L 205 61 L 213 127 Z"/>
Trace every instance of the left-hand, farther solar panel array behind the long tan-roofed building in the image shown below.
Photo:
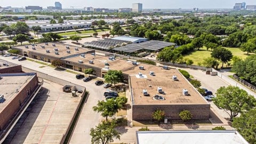
<path fill-rule="evenodd" d="M 84 47 L 95 47 L 98 49 L 105 49 L 109 50 L 111 47 L 116 47 L 117 45 L 122 45 L 123 43 L 131 43 L 129 41 L 122 41 L 117 39 L 99 39 L 98 41 L 92 41 L 92 42 L 85 42 Z"/>

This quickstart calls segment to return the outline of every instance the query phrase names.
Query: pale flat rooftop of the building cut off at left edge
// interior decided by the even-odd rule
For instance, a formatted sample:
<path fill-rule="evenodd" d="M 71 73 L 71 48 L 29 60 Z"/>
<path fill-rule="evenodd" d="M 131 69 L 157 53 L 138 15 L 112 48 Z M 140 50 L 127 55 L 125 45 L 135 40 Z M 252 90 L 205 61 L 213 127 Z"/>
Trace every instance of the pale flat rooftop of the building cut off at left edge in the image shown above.
<path fill-rule="evenodd" d="M 4 95 L 5 101 L 0 103 L 0 111 L 2 111 L 17 95 L 17 90 L 23 89 L 23 86 L 26 86 L 30 80 L 35 75 L 29 75 L 26 73 L 22 73 L 21 76 L 5 76 L 5 74 L 0 75 L 0 94 Z M 9 74 L 11 75 L 11 74 Z"/>

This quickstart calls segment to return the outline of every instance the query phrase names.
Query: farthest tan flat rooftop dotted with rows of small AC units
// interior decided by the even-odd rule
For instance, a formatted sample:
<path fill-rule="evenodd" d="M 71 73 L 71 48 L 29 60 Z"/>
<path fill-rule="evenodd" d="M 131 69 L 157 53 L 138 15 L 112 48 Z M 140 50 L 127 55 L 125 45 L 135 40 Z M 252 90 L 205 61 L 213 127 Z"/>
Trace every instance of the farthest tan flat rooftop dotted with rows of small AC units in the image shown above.
<path fill-rule="evenodd" d="M 53 46 L 55 44 L 55 46 Z M 27 46 L 28 48 L 26 48 Z M 42 48 L 44 46 L 44 48 Z M 67 49 L 66 46 L 69 46 L 69 49 Z M 32 49 L 32 47 L 35 47 L 35 50 Z M 65 44 L 60 44 L 60 43 L 48 43 L 46 45 L 45 43 L 40 43 L 40 44 L 35 44 L 33 45 L 23 45 L 23 46 L 17 46 L 16 48 L 22 49 L 23 52 L 36 52 L 44 55 L 49 55 L 51 57 L 68 57 L 70 55 L 75 55 L 75 54 L 81 54 L 81 53 L 86 53 L 91 50 L 88 49 L 82 49 L 81 47 L 76 47 L 76 46 L 71 46 L 71 45 L 65 45 Z M 58 49 L 58 51 L 55 51 L 55 49 Z M 78 49 L 78 50 L 75 50 Z M 49 50 L 49 52 L 46 52 L 46 50 Z M 70 53 L 68 53 L 69 51 Z M 58 52 L 58 54 L 55 54 L 55 52 Z"/>

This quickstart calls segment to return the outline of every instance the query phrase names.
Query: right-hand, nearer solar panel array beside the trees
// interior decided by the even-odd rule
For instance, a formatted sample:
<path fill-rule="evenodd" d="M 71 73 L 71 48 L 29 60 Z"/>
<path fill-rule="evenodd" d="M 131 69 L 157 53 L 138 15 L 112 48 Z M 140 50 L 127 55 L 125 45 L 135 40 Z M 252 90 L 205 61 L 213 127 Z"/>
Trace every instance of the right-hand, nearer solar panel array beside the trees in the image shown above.
<path fill-rule="evenodd" d="M 174 43 L 169 43 L 169 42 L 163 42 L 163 41 L 156 41 L 156 40 L 151 40 L 151 41 L 147 41 L 147 42 L 143 42 L 143 43 L 134 43 L 134 44 L 128 44 L 125 46 L 121 46 L 121 47 L 116 47 L 115 51 L 123 51 L 123 52 L 128 52 L 128 53 L 132 53 L 132 52 L 136 52 L 139 50 L 151 50 L 151 51 L 157 51 L 157 50 L 161 50 L 166 46 L 171 46 L 171 45 L 175 45 Z"/>

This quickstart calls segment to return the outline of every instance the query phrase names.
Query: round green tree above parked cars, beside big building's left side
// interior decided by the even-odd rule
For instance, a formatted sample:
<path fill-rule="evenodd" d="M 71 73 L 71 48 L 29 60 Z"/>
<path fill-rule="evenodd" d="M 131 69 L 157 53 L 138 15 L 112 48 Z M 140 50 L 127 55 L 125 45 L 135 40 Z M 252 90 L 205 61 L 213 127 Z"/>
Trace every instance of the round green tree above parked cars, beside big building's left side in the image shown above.
<path fill-rule="evenodd" d="M 116 86 L 116 83 L 123 82 L 124 79 L 121 70 L 108 70 L 104 78 L 107 83 L 114 83 L 114 86 Z"/>

